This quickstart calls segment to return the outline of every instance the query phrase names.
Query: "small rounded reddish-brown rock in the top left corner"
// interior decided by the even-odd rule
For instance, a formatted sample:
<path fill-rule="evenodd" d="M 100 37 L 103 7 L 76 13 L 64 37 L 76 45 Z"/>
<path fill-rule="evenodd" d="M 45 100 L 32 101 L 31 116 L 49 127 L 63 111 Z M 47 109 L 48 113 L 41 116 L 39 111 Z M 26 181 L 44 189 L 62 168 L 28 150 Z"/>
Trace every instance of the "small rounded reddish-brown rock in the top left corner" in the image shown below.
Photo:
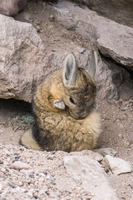
<path fill-rule="evenodd" d="M 27 5 L 27 0 L 0 0 L 0 13 L 8 16 L 16 15 Z"/>

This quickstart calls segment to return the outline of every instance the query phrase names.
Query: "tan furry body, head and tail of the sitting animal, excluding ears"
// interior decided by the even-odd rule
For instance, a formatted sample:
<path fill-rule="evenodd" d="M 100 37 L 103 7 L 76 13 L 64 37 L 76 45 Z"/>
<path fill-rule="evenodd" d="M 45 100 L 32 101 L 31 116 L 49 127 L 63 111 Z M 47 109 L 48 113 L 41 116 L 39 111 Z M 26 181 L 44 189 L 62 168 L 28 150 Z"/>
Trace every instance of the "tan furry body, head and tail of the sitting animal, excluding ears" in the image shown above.
<path fill-rule="evenodd" d="M 67 65 L 73 67 L 73 63 L 71 56 Z M 35 125 L 32 132 L 26 132 L 21 138 L 27 148 L 70 152 L 96 146 L 101 122 L 99 114 L 93 110 L 95 82 L 80 68 L 71 83 L 65 85 L 62 73 L 61 69 L 50 74 L 35 92 Z M 65 108 L 56 108 L 56 100 L 61 100 Z"/>

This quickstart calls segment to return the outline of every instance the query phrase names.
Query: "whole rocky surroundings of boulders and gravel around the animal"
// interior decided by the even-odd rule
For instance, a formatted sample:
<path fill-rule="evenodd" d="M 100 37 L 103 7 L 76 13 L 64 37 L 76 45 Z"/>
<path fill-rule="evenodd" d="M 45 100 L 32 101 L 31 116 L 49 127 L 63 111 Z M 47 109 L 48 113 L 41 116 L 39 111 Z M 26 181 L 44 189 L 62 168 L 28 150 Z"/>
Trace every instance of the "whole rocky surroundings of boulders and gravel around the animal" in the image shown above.
<path fill-rule="evenodd" d="M 131 200 L 133 2 L 53 3 L 0 1 L 0 198 Z M 25 126 L 16 116 L 31 115 L 24 102 L 31 103 L 36 86 L 62 67 L 69 52 L 87 68 L 92 50 L 98 57 L 96 105 L 103 122 L 98 146 L 114 148 L 117 156 L 21 147 Z"/>

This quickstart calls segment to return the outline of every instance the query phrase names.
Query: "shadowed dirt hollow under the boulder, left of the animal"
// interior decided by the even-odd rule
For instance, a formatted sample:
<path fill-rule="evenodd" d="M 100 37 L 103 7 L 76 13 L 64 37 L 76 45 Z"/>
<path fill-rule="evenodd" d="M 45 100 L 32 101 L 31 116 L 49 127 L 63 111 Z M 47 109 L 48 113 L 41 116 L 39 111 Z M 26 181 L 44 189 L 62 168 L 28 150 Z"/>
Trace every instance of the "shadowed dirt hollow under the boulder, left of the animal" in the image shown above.
<path fill-rule="evenodd" d="M 0 99 L 0 142 L 19 145 L 20 136 L 33 124 L 31 105 Z"/>

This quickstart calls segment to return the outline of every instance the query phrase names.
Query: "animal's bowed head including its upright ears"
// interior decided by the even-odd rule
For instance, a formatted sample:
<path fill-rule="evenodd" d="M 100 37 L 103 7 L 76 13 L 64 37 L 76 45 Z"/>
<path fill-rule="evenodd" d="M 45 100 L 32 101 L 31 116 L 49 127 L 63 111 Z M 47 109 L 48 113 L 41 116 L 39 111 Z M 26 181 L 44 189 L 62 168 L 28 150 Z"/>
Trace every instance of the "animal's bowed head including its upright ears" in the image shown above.
<path fill-rule="evenodd" d="M 57 89 L 55 86 L 56 89 L 54 87 L 51 89 L 55 99 L 53 107 L 62 110 L 68 109 L 70 115 L 76 119 L 86 117 L 95 100 L 96 85 L 92 78 L 94 72 L 94 62 L 92 62 L 91 73 L 87 73 L 84 69 L 77 68 L 74 55 L 69 54 L 65 59 L 60 87 Z"/>

